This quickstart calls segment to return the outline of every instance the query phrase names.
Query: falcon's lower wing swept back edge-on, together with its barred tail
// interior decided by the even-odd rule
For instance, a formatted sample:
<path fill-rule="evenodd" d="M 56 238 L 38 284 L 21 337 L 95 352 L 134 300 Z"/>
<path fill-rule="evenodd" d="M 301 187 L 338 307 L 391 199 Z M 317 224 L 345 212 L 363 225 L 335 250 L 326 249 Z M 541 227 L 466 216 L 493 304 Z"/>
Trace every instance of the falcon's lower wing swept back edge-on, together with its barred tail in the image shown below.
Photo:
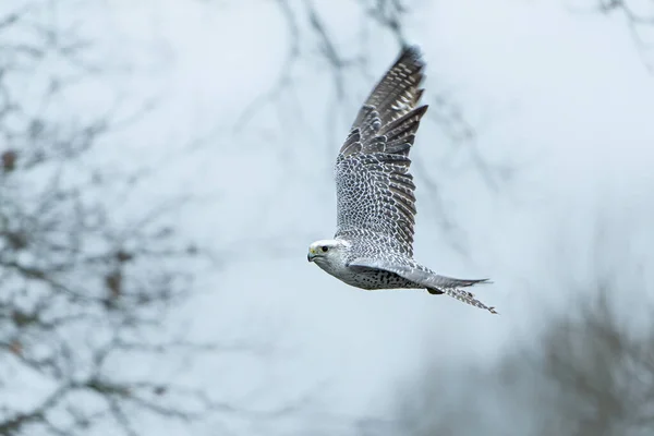
<path fill-rule="evenodd" d="M 397 274 L 398 276 L 413 281 L 416 287 L 424 287 L 429 293 L 445 293 L 465 304 L 484 308 L 496 314 L 495 307 L 488 307 L 474 298 L 472 292 L 462 288 L 468 288 L 477 283 L 487 283 L 488 279 L 463 280 L 451 277 L 439 276 L 436 272 L 419 264 L 400 264 L 386 259 L 358 258 L 348 264 L 353 269 L 376 269 Z"/>

